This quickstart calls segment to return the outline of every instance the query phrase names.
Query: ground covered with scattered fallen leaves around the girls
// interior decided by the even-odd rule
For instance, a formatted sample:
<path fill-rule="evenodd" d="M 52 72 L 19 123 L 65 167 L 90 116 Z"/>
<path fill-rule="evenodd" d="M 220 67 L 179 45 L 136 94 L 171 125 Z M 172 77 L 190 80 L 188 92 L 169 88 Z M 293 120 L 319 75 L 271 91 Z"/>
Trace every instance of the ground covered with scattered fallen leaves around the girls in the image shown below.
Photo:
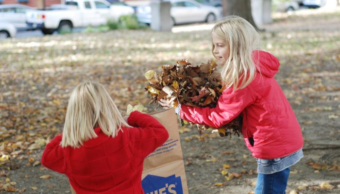
<path fill-rule="evenodd" d="M 280 60 L 276 79 L 305 140 L 305 157 L 291 168 L 289 193 L 340 193 L 339 18 L 339 10 L 280 17 L 261 32 L 260 48 Z M 62 131 L 70 91 L 95 80 L 121 112 L 128 104 L 146 105 L 144 73 L 183 58 L 206 63 L 212 58 L 209 34 L 111 31 L 1 41 L 0 192 L 70 193 L 67 178 L 39 162 L 46 142 Z M 256 162 L 241 137 L 200 138 L 189 126 L 180 132 L 190 194 L 252 193 Z"/>

